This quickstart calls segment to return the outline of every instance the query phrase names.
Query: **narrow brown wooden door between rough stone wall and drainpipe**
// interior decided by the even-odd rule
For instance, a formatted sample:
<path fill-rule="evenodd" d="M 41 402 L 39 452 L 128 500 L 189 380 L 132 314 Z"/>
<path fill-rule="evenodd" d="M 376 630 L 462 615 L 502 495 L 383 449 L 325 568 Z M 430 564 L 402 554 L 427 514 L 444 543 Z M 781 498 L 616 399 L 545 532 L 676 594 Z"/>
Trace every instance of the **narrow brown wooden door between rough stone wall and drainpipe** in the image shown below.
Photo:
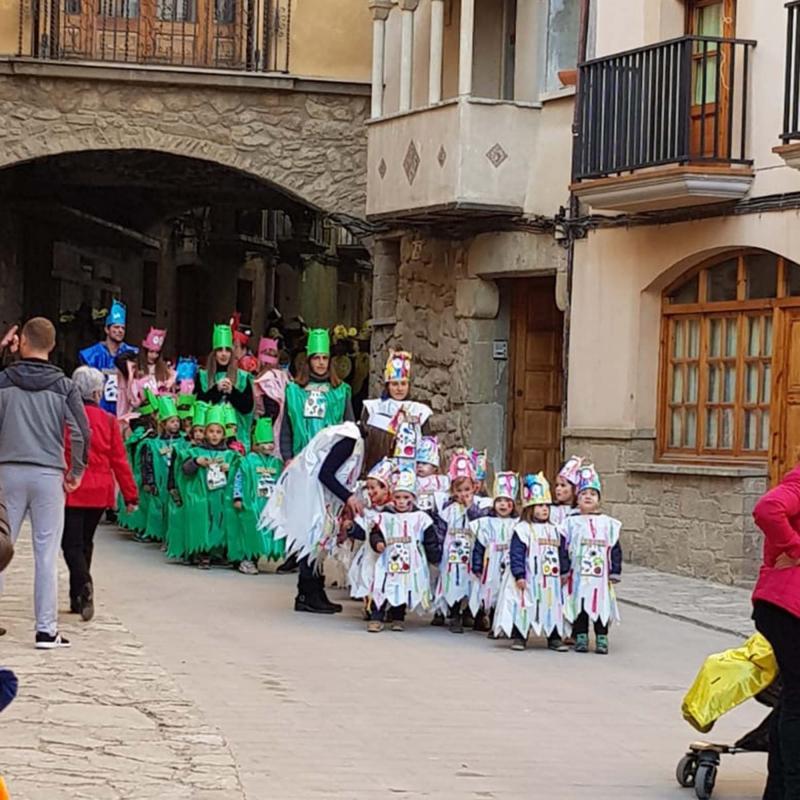
<path fill-rule="evenodd" d="M 563 315 L 555 278 L 516 280 L 513 286 L 509 468 L 542 470 L 552 479 L 561 461 Z"/>

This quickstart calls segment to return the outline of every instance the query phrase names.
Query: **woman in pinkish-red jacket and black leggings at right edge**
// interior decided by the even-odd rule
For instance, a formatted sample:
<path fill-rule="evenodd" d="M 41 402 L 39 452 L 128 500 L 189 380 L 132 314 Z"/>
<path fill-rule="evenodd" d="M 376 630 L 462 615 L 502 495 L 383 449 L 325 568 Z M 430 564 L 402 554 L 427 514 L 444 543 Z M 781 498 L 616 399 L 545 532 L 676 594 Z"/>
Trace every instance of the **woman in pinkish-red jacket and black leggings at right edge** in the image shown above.
<path fill-rule="evenodd" d="M 800 800 L 800 467 L 758 501 L 753 517 L 766 539 L 753 619 L 783 679 L 764 800 Z"/>

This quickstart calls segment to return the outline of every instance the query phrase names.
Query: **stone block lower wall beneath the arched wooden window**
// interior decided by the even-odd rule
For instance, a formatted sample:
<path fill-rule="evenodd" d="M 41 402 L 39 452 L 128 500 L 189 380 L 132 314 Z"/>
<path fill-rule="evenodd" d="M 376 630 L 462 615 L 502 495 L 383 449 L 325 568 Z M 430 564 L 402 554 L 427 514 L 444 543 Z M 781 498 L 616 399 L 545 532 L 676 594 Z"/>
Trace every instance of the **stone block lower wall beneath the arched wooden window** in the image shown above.
<path fill-rule="evenodd" d="M 567 454 L 588 457 L 603 480 L 603 505 L 622 522 L 625 559 L 654 569 L 752 584 L 761 535 L 753 507 L 764 471 L 655 464 L 652 436 L 565 437 Z"/>

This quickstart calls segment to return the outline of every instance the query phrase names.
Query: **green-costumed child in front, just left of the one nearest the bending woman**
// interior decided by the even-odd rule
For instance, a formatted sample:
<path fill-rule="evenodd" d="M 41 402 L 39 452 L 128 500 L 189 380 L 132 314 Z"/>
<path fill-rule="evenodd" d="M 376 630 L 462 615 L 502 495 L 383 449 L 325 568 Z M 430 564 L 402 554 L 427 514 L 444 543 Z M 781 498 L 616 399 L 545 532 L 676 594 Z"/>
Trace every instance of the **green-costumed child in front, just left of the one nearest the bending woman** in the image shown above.
<path fill-rule="evenodd" d="M 193 446 L 181 465 L 178 491 L 184 504 L 186 552 L 208 569 L 211 557 L 237 550 L 238 520 L 233 508 L 233 476 L 241 456 L 225 443 L 225 412 L 212 406 L 206 415 L 205 445 Z"/>

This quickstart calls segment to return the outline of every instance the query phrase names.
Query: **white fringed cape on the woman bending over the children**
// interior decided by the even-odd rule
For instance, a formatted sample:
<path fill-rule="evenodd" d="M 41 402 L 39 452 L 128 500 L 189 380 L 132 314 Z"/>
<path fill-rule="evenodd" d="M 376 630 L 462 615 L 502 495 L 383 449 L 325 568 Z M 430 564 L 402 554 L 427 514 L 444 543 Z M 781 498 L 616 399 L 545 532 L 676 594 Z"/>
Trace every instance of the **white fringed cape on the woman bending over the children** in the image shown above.
<path fill-rule="evenodd" d="M 353 455 L 336 473 L 338 480 L 352 490 L 361 471 L 364 443 L 353 422 L 331 425 L 321 430 L 283 471 L 259 520 L 261 530 L 272 530 L 276 539 L 286 539 L 287 554 L 308 556 L 314 563 L 324 552 L 331 552 L 342 501 L 319 480 L 325 458 L 342 439 L 354 439 Z"/>

